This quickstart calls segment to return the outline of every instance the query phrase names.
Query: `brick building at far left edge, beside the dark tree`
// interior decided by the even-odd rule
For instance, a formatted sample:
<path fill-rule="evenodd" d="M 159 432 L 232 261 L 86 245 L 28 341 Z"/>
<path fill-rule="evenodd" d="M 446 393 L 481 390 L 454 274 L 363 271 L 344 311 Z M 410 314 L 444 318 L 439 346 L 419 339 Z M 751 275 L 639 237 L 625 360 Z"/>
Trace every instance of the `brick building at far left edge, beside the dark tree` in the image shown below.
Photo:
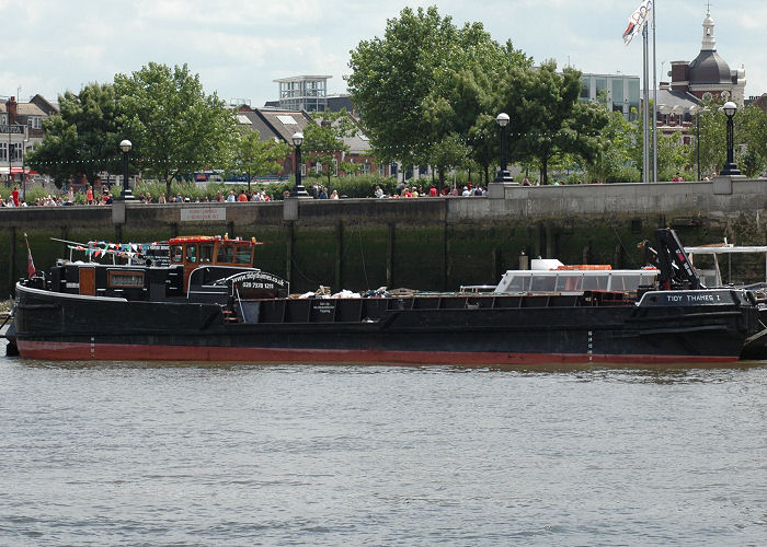
<path fill-rule="evenodd" d="M 37 102 L 19 103 L 11 96 L 0 101 L 0 176 L 8 183 L 22 181 L 22 173 L 30 174 L 24 155 L 43 142 L 43 120 L 49 116 L 38 106 L 44 101 L 51 110 L 56 108 L 36 95 Z"/>

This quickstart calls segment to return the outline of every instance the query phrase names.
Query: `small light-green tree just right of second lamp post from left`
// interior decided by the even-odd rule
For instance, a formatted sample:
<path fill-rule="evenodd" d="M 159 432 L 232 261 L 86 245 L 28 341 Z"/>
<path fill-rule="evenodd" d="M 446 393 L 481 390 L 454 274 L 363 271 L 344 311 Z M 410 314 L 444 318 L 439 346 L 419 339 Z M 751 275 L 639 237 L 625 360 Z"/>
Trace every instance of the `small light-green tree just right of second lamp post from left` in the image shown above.
<path fill-rule="evenodd" d="M 330 179 L 336 173 L 336 161 L 339 161 L 337 170 L 344 173 L 354 173 L 358 168 L 353 163 L 341 162 L 341 158 L 350 151 L 344 138 L 354 136 L 357 126 L 345 108 L 340 112 L 312 113 L 312 121 L 304 128 L 301 148 L 320 163 L 321 175 L 328 179 L 328 186 L 330 186 Z"/>

